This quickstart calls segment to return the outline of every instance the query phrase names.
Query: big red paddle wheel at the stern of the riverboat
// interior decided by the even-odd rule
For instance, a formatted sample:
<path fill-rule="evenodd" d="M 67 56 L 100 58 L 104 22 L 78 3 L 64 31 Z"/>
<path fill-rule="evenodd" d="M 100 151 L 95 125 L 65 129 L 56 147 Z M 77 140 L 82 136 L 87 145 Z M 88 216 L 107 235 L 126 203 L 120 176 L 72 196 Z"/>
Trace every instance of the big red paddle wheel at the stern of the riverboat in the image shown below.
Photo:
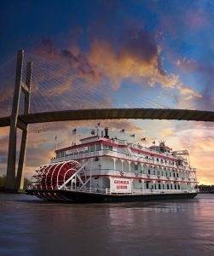
<path fill-rule="evenodd" d="M 33 177 L 33 189 L 42 190 L 35 195 L 47 199 L 61 197 L 61 193 L 51 190 L 78 189 L 86 181 L 84 166 L 75 160 L 39 166 Z"/>

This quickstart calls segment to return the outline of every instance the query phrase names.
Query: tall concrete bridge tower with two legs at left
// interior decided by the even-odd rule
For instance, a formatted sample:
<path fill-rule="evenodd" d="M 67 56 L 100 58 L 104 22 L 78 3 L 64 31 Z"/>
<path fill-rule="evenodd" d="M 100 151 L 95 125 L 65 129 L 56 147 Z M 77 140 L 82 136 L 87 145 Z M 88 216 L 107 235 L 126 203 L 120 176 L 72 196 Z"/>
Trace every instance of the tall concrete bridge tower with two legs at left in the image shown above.
<path fill-rule="evenodd" d="M 26 83 L 22 82 L 23 73 L 24 50 L 20 49 L 17 52 L 16 61 L 16 75 L 14 84 L 14 100 L 12 112 L 10 115 L 10 129 L 9 129 L 9 153 L 8 153 L 8 167 L 7 176 L 4 184 L 6 190 L 19 190 L 23 189 L 24 175 L 22 175 L 23 166 L 26 159 L 26 142 L 28 125 L 18 119 L 20 109 L 20 93 L 24 93 L 24 114 L 29 113 L 30 109 L 30 89 L 32 84 L 32 62 L 26 64 Z M 20 156 L 18 163 L 17 175 L 16 169 L 16 140 L 17 128 L 22 131 L 20 143 Z"/>

